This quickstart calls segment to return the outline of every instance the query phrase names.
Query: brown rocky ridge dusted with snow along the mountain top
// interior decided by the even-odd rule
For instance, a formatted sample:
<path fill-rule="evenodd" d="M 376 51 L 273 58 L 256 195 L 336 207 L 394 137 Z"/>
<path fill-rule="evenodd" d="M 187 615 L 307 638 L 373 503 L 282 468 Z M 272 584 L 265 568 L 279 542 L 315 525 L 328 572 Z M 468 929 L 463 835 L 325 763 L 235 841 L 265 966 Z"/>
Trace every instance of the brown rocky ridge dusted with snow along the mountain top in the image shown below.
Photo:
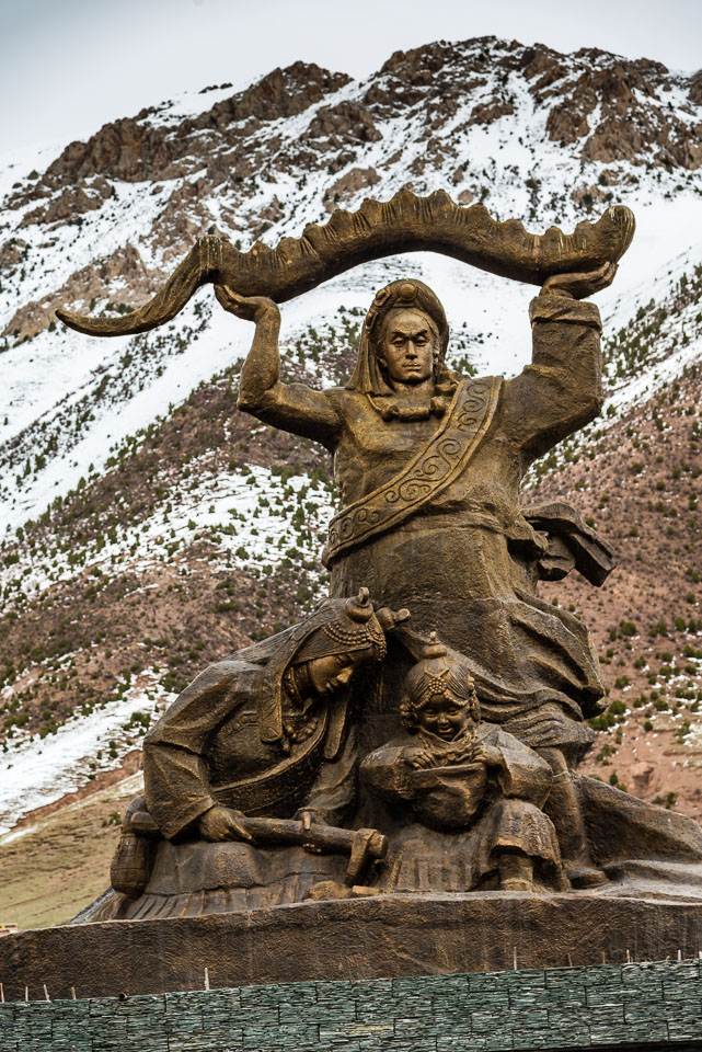
<path fill-rule="evenodd" d="M 388 185 L 389 175 L 394 176 L 390 187 L 398 188 L 399 168 L 417 192 L 434 188 L 433 175 L 439 173 L 441 184 L 449 176 L 462 204 L 476 197 L 490 203 L 495 191 L 484 181 L 487 173 L 461 163 L 461 138 L 474 126 L 504 126 L 525 98 L 545 117 L 548 140 L 571 147 L 584 175 L 588 162 L 626 161 L 634 169 L 663 169 L 667 174 L 677 169 L 684 178 L 702 164 L 701 84 L 699 73 L 674 75 L 645 59 L 631 61 L 595 49 L 563 56 L 541 45 L 522 47 L 490 37 L 396 53 L 361 83 L 296 62 L 232 96 L 227 85 L 206 89 L 204 100 L 214 92 L 217 101 L 198 113 L 184 115 L 165 103 L 105 125 L 88 142 L 70 144 L 43 173 L 31 172 L 15 183 L 5 207 L 18 214 L 19 237 L 8 239 L 0 258 L 11 264 L 19 252 L 33 248 L 22 239 L 22 230 L 55 231 L 82 225 L 91 213 L 110 211 L 119 183 L 153 184 L 150 193 L 159 207 L 140 240 L 161 263 L 181 255 L 212 225 L 243 240 L 289 226 L 299 202 L 287 215 L 287 203 L 278 193 L 266 193 L 266 184 L 291 180 L 296 192 L 303 191 L 308 173 L 321 165 L 329 175 L 343 173 L 324 188 L 323 201 L 332 205 L 381 179 Z M 370 145 L 394 138 L 393 125 L 410 132 L 404 148 L 389 155 L 382 148 L 369 151 Z M 539 138 L 533 133 L 541 129 L 522 130 L 519 138 L 538 169 Z M 417 144 L 423 145 L 421 152 Z M 357 163 L 369 152 L 373 160 L 381 158 L 377 168 Z M 513 172 L 515 178 L 520 174 Z M 635 184 L 638 178 L 619 170 L 597 175 L 596 185 L 573 187 L 575 201 L 585 198 L 591 205 L 612 199 L 612 187 L 622 180 Z M 542 180 L 536 172 L 527 178 L 539 198 L 537 184 Z M 319 202 L 314 204 L 319 213 Z M 543 204 L 539 201 L 539 211 L 532 205 L 530 213 L 549 218 Z M 567 208 L 564 218 L 569 218 Z M 113 260 L 113 273 L 105 277 L 122 278 L 131 296 L 140 298 L 151 291 L 149 277 L 162 275 L 148 260 L 139 268 L 141 260 L 135 260 L 134 251 L 131 247 L 124 260 Z M 74 272 L 71 277 L 70 287 L 60 289 L 62 301 L 87 307 L 94 298 L 87 287 L 90 275 L 79 278 Z M 35 309 L 31 316 L 28 305 L 20 308 L 3 334 L 19 330 L 20 339 L 33 335 L 50 321 L 48 311 Z"/>

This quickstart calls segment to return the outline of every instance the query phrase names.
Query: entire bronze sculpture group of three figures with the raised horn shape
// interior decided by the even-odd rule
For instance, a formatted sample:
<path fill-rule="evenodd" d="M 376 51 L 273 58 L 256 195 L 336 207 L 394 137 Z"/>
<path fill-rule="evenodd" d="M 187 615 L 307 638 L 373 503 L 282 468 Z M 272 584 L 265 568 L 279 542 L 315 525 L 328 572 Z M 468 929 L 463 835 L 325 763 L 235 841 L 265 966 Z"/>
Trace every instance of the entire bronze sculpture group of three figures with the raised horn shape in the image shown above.
<path fill-rule="evenodd" d="M 83 332 L 143 332 L 215 284 L 227 311 L 255 323 L 239 408 L 321 443 L 342 505 L 324 551 L 332 598 L 206 670 L 147 736 L 146 799 L 113 869 L 123 893 L 81 919 L 552 893 L 617 879 L 631 858 L 702 859 L 694 823 L 577 775 L 603 685 L 587 628 L 538 585 L 574 569 L 600 585 L 612 551 L 569 505 L 520 503 L 531 464 L 601 409 L 600 318 L 583 300 L 611 283 L 633 229 L 617 207 L 574 235 L 533 237 L 483 206 L 403 191 L 277 249 L 202 239 L 119 319 L 60 312 Z M 277 304 L 427 248 L 541 286 L 519 376 L 451 370 L 438 297 L 400 277 L 376 294 L 344 387 L 280 379 Z M 435 629 L 441 644 L 427 642 Z M 377 676 L 345 683 L 373 656 Z"/>

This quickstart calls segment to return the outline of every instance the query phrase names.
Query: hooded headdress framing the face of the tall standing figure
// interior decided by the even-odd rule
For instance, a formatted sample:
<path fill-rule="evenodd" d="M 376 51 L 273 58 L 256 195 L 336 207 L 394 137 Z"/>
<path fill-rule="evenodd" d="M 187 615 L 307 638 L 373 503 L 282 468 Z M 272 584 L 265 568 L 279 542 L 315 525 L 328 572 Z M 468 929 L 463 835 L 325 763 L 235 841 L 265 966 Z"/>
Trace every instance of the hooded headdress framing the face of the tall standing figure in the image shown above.
<path fill-rule="evenodd" d="M 376 293 L 371 308 L 366 315 L 358 344 L 358 361 L 354 375 L 346 385 L 349 390 L 379 397 L 394 396 L 378 363 L 377 341 L 382 323 L 391 310 L 416 309 L 428 315 L 439 335 L 439 353 L 434 367 L 435 387 L 439 397 L 456 389 L 453 374 L 444 364 L 449 342 L 449 325 L 438 296 L 428 285 L 417 278 L 400 278 Z M 446 388 L 446 390 L 444 389 Z"/>

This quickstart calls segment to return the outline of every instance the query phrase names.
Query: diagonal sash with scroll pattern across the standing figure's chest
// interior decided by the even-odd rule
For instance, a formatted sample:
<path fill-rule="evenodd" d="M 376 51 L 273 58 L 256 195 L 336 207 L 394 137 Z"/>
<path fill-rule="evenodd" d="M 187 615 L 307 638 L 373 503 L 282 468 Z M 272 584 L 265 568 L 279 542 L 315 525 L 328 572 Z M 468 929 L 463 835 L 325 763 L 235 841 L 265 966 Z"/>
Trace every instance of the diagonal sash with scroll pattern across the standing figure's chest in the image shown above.
<path fill-rule="evenodd" d="M 325 565 L 399 526 L 451 485 L 492 423 L 502 382 L 500 377 L 491 376 L 461 380 L 440 427 L 410 464 L 334 516 L 322 557 Z"/>

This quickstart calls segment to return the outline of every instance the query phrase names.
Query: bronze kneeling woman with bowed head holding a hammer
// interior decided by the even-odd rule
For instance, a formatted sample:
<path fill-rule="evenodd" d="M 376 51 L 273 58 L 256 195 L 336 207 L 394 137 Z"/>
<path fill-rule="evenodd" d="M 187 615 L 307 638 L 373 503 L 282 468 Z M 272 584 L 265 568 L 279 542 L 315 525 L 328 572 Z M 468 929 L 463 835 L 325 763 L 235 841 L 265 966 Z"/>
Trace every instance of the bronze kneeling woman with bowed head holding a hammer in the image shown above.
<path fill-rule="evenodd" d="M 128 900 L 146 891 L 146 900 L 133 907 L 113 895 L 101 903 L 100 918 L 133 916 L 135 908 L 153 915 L 149 892 L 169 897 L 159 891 L 158 872 L 150 887 L 154 868 L 163 868 L 159 855 L 174 857 L 163 845 L 156 850 L 162 839 L 185 845 L 180 855 L 188 856 L 196 882 L 193 845 L 202 842 L 350 853 L 354 878 L 361 862 L 382 855 L 384 842 L 373 831 L 353 837 L 338 828 L 355 803 L 355 721 L 362 719 L 358 693 L 353 698 L 347 688 L 364 665 L 384 659 L 385 633 L 408 617 L 406 609 L 376 613 L 361 588 L 200 673 L 146 736 L 145 794 L 127 811 L 113 860 L 114 891 Z M 298 821 L 280 821 L 289 819 Z M 256 869 L 251 851 L 238 857 L 244 869 Z M 291 897 L 315 882 L 314 872 L 315 865 L 307 883 L 296 874 Z M 249 873 L 243 884 L 256 882 L 266 883 Z"/>

